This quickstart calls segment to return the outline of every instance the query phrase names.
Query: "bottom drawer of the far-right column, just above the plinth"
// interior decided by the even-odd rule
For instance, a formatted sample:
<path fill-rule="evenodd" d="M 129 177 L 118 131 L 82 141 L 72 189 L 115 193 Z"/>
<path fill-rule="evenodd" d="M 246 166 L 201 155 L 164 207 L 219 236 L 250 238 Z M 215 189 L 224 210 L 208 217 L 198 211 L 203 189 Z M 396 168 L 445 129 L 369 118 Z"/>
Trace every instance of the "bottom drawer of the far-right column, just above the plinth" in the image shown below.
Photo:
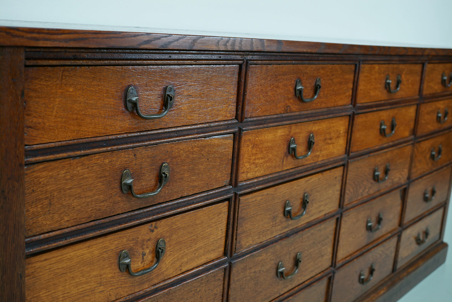
<path fill-rule="evenodd" d="M 402 267 L 414 258 L 414 256 L 439 239 L 443 222 L 443 212 L 444 208 L 440 208 L 438 211 L 414 223 L 402 232 L 397 268 Z"/>

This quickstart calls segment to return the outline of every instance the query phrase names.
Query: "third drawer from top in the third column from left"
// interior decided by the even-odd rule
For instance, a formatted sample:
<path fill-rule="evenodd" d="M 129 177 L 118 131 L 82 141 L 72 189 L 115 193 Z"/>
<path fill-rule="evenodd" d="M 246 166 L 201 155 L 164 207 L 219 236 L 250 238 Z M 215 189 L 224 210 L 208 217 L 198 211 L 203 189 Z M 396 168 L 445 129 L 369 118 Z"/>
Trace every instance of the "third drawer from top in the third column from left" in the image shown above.
<path fill-rule="evenodd" d="M 411 149 L 411 146 L 405 146 L 350 160 L 345 185 L 345 204 L 405 182 L 408 178 Z M 388 164 L 389 171 L 386 169 Z M 384 180 L 386 175 L 387 179 Z"/>

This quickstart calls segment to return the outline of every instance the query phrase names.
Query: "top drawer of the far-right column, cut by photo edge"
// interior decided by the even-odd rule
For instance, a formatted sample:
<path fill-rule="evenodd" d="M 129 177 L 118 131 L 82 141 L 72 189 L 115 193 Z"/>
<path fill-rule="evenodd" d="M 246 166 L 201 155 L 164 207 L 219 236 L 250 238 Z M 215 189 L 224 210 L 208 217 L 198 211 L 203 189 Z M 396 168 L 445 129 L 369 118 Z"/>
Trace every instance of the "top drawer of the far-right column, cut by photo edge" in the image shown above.
<path fill-rule="evenodd" d="M 451 73 L 452 63 L 428 63 L 423 94 L 452 91 L 452 85 L 447 87 L 451 81 Z M 443 76 L 446 76 L 445 80 Z"/>

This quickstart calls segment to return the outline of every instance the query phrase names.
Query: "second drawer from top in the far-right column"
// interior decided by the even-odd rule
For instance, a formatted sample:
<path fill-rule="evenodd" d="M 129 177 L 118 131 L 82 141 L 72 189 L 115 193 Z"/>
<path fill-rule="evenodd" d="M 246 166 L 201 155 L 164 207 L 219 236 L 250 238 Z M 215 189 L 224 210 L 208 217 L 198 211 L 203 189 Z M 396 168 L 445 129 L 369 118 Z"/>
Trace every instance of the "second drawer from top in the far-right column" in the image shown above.
<path fill-rule="evenodd" d="M 452 125 L 452 99 L 423 103 L 419 109 L 417 134 L 425 134 Z"/>

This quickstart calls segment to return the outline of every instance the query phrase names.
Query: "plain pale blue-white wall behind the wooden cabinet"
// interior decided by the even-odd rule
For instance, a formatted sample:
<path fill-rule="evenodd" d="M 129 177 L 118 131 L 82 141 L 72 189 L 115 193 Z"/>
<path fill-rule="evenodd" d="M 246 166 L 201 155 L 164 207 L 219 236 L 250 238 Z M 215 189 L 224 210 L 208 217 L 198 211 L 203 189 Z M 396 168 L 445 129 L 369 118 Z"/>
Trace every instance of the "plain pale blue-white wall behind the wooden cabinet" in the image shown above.
<path fill-rule="evenodd" d="M 46 22 L 36 24 L 34 22 Z M 0 25 L 452 48 L 451 0 L 0 0 Z M 444 241 L 452 243 L 452 209 Z M 402 298 L 452 301 L 446 264 Z"/>

